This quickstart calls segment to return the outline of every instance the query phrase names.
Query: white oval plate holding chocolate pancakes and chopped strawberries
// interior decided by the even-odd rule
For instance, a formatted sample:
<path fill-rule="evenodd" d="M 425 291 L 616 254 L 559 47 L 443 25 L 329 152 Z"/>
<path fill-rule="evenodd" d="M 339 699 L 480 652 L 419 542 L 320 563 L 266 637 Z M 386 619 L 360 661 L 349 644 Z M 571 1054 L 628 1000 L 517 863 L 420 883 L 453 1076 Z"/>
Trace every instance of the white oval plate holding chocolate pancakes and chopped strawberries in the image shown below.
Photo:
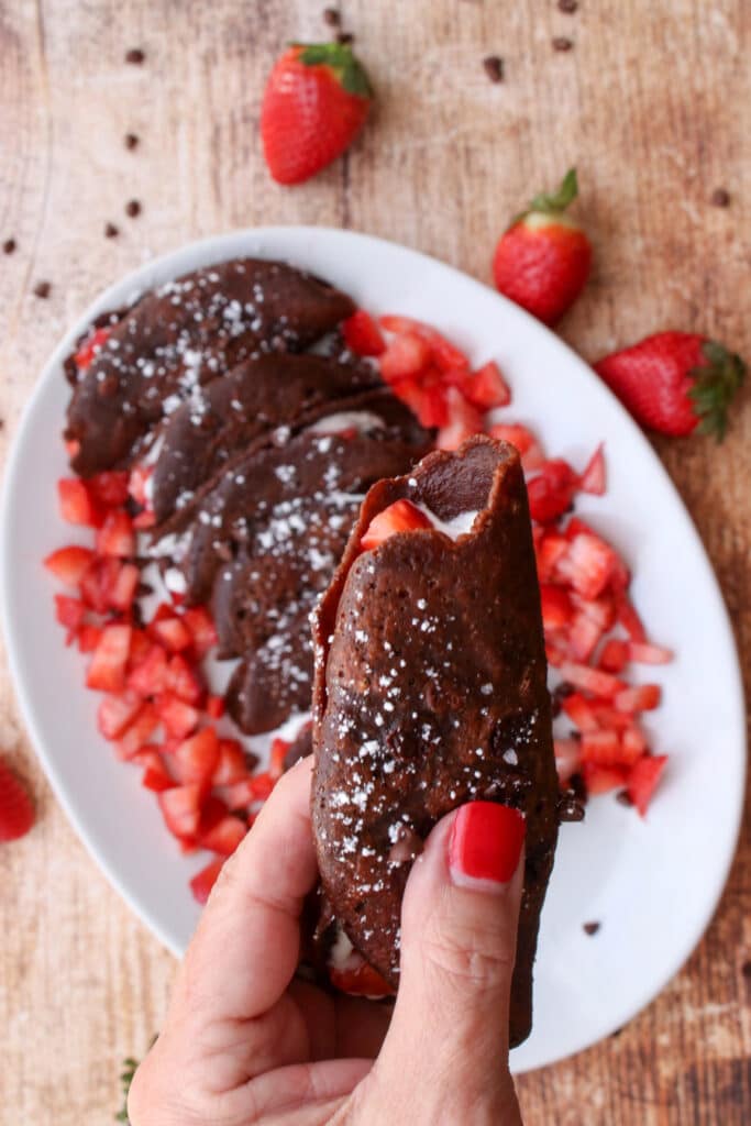
<path fill-rule="evenodd" d="M 582 498 L 578 511 L 625 554 L 651 635 L 678 654 L 656 670 L 664 703 L 649 720 L 655 749 L 671 758 L 646 820 L 608 795 L 590 804 L 584 824 L 563 828 L 543 914 L 535 1027 L 512 1053 L 517 1072 L 549 1064 L 613 1033 L 647 1004 L 709 922 L 741 817 L 743 697 L 717 583 L 649 443 L 573 351 L 493 291 L 367 235 L 266 227 L 194 243 L 101 294 L 42 373 L 6 479 L 2 618 L 32 740 L 107 877 L 154 933 L 181 953 L 198 917 L 188 879 L 206 856 L 178 854 L 138 772 L 117 762 L 97 734 L 97 697 L 83 690 L 83 659 L 63 647 L 53 583 L 41 561 L 75 534 L 59 517 L 55 489 L 66 473 L 60 437 L 69 399 L 63 357 L 96 314 L 123 305 L 137 291 L 236 254 L 286 259 L 341 286 L 375 313 L 436 324 L 475 361 L 495 358 L 513 391 L 506 415 L 533 425 L 551 456 L 581 467 L 605 440 L 607 495 Z M 601 924 L 593 937 L 582 930 L 588 921 Z"/>

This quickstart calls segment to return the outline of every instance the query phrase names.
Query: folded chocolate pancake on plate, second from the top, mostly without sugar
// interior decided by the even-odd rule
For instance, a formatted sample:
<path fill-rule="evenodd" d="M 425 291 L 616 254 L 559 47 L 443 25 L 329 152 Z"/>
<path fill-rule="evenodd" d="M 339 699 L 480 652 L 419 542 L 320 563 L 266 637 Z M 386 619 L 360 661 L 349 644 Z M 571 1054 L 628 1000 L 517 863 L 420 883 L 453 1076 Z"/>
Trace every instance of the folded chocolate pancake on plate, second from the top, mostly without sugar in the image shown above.
<path fill-rule="evenodd" d="M 331 400 L 379 383 L 365 365 L 284 352 L 244 360 L 214 379 L 197 402 L 194 396 L 170 415 L 160 436 L 152 477 L 157 524 L 173 515 L 184 522 L 179 513 L 187 516 L 196 492 L 269 430 L 298 429 Z"/>

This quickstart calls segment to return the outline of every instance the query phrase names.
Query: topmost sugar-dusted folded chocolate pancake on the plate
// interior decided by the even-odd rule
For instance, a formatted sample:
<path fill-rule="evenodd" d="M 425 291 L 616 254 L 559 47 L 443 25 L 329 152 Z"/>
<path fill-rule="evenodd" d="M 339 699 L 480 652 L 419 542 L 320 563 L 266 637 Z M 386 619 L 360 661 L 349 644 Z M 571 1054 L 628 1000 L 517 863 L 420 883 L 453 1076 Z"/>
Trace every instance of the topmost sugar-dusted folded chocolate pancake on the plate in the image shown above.
<path fill-rule="evenodd" d="M 354 311 L 345 294 L 281 262 L 233 259 L 147 293 L 81 373 L 68 410 L 71 464 L 127 465 L 200 387 L 259 352 L 301 351 Z"/>

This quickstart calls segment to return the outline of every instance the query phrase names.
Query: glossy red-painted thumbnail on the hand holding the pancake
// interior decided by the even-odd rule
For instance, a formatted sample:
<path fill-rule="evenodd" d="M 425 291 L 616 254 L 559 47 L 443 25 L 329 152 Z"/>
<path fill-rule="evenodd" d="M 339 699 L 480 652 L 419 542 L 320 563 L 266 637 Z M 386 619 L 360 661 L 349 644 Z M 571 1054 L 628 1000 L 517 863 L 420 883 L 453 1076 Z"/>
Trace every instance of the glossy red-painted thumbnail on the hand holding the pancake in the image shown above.
<path fill-rule="evenodd" d="M 518 810 L 498 802 L 470 802 L 459 810 L 448 841 L 452 879 L 492 891 L 517 870 L 526 824 Z"/>

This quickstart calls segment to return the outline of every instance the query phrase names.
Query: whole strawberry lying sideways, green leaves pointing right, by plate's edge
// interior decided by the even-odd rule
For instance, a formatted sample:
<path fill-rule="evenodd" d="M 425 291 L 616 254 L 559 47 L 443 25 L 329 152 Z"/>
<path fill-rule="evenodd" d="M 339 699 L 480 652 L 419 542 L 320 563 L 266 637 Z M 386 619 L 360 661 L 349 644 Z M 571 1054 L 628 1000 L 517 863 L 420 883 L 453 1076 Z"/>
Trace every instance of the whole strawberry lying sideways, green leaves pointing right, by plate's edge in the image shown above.
<path fill-rule="evenodd" d="M 673 436 L 698 430 L 719 441 L 745 364 L 694 332 L 656 332 L 594 370 L 642 426 Z"/>

